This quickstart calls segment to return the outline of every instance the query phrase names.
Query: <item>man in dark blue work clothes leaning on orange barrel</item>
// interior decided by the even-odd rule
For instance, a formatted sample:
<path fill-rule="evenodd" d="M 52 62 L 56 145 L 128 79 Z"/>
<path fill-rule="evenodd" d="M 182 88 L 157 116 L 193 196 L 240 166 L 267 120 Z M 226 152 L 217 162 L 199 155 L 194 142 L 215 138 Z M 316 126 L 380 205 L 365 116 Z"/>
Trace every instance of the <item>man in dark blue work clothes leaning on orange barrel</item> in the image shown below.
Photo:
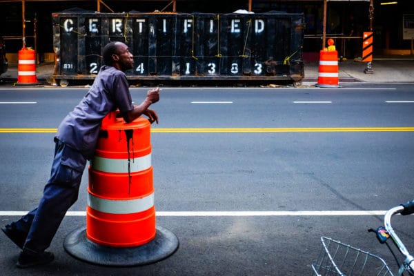
<path fill-rule="evenodd" d="M 149 90 L 146 99 L 133 106 L 125 71 L 132 69 L 133 56 L 122 42 L 110 42 L 103 48 L 103 63 L 95 81 L 80 103 L 59 125 L 55 135 L 52 172 L 39 206 L 18 221 L 1 228 L 22 249 L 17 267 L 48 264 L 50 246 L 66 211 L 75 203 L 81 177 L 95 151 L 101 121 L 108 112 L 119 109 L 128 123 L 146 115 L 152 124 L 158 116 L 148 107 L 159 100 L 159 88 Z"/>

